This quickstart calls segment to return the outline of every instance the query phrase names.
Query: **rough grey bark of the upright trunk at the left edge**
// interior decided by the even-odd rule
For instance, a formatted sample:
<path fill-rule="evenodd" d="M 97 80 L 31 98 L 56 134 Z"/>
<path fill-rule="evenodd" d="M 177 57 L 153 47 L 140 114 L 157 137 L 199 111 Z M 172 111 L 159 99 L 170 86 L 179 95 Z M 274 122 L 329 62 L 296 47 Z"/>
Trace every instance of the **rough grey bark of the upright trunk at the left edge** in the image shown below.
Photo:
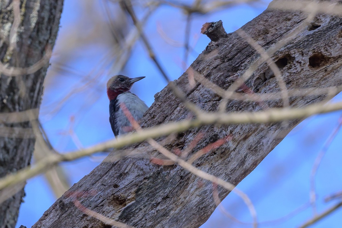
<path fill-rule="evenodd" d="M 17 30 L 17 48 L 14 49 L 9 39 L 11 29 L 15 26 L 13 4 L 11 0 L 0 1 L 0 60 L 8 64 L 8 67 L 30 67 L 43 57 L 46 48 L 52 48 L 55 44 L 63 0 L 21 0 L 20 15 L 17 17 L 19 24 L 17 29 L 12 30 Z M 1 74 L 0 113 L 39 108 L 48 66 L 47 63 L 35 73 L 23 76 L 9 77 Z M 35 139 L 28 121 L 14 120 L 8 123 L 1 119 L 0 128 L 2 177 L 30 163 Z M 8 129 L 13 130 L 6 132 Z M 0 204 L 0 228 L 15 227 L 18 210 L 25 195 L 22 186 L 15 195 Z"/>

